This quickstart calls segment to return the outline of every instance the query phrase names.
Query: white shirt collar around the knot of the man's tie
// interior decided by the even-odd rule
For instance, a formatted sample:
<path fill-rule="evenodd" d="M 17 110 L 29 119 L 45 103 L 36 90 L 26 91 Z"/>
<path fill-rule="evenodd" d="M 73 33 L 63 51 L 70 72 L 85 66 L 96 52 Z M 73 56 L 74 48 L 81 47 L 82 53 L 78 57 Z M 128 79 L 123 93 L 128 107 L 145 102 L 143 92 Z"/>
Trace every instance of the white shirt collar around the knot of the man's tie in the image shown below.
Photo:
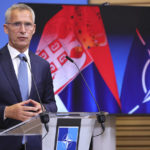
<path fill-rule="evenodd" d="M 10 46 L 10 44 L 8 43 L 8 50 L 9 50 L 9 53 L 10 53 L 10 56 L 11 56 L 11 59 L 15 59 L 17 58 L 17 56 L 20 54 L 20 52 L 13 48 L 12 46 Z M 27 49 L 25 52 L 24 52 L 25 56 L 27 57 L 27 60 L 29 60 L 29 49 Z"/>

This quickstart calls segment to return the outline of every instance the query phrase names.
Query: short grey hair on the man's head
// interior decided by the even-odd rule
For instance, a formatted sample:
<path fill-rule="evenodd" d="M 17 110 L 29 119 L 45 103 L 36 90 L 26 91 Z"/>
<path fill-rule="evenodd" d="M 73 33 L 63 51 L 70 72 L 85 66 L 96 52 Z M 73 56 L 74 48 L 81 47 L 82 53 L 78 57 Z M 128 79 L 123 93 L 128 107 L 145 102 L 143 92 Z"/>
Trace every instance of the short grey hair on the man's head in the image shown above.
<path fill-rule="evenodd" d="M 7 9 L 6 13 L 5 13 L 5 23 L 8 23 L 11 13 L 13 10 L 18 9 L 18 10 L 28 10 L 31 12 L 32 14 L 32 18 L 33 18 L 33 22 L 35 22 L 35 13 L 33 11 L 33 9 L 31 7 L 29 7 L 26 4 L 14 4 L 12 5 L 10 8 Z"/>

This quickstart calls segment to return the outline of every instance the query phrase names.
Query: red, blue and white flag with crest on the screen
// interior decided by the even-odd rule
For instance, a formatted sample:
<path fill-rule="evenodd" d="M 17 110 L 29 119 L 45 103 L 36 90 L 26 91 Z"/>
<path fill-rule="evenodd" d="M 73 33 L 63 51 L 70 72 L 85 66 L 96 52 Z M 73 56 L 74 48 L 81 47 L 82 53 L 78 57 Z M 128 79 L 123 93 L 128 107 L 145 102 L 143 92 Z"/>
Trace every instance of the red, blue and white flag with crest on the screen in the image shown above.
<path fill-rule="evenodd" d="M 100 8 L 62 6 L 46 23 L 36 54 L 50 63 L 55 94 L 68 111 L 98 111 L 77 67 L 103 111 L 121 109 L 112 57 Z M 59 106 L 58 106 L 59 107 Z"/>

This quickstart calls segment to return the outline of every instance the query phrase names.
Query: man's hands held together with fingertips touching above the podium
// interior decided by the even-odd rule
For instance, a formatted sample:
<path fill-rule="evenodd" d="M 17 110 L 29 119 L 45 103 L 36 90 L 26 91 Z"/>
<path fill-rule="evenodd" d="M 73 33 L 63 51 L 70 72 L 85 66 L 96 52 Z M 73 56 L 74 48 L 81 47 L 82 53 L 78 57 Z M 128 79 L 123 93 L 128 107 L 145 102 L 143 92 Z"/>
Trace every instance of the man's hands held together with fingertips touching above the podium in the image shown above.
<path fill-rule="evenodd" d="M 42 109 L 40 103 L 29 99 L 11 106 L 6 106 L 5 117 L 25 121 L 38 115 L 41 112 Z"/>

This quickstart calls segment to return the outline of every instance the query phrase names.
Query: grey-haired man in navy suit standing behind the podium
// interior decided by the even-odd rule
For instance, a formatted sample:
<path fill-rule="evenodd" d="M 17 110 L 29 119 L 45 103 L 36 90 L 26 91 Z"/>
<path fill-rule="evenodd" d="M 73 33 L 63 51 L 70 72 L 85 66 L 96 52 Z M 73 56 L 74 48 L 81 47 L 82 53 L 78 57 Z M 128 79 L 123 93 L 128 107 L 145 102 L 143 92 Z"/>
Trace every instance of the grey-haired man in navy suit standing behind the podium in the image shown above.
<path fill-rule="evenodd" d="M 40 114 L 42 107 L 44 111 L 57 111 L 50 66 L 29 51 L 36 29 L 34 21 L 33 10 L 25 4 L 15 4 L 5 14 L 4 31 L 8 34 L 9 42 L 0 50 L 0 129 L 7 129 Z M 23 99 L 21 95 L 24 89 L 18 82 L 19 54 L 23 54 L 31 66 L 43 106 L 39 102 L 28 65 L 28 98 Z"/>

